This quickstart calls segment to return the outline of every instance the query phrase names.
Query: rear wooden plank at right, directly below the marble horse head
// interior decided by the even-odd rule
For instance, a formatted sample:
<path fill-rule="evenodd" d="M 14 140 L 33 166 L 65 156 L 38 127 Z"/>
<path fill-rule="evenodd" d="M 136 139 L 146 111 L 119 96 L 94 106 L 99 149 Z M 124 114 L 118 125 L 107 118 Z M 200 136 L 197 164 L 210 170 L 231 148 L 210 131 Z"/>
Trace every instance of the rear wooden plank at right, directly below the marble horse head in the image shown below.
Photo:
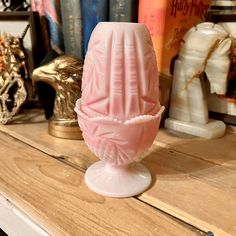
<path fill-rule="evenodd" d="M 218 139 L 203 139 L 170 130 L 160 130 L 155 144 L 236 169 L 236 135 L 233 127 L 229 127 L 225 136 Z"/>

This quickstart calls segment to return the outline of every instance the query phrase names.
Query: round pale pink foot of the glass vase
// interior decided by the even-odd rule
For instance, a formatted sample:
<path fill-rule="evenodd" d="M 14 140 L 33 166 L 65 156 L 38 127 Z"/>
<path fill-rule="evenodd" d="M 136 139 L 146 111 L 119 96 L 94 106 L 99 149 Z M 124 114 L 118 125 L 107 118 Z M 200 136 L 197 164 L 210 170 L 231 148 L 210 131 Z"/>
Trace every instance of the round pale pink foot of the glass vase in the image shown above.
<path fill-rule="evenodd" d="M 116 167 L 98 161 L 87 169 L 85 182 L 96 193 L 123 198 L 144 192 L 151 184 L 151 174 L 138 162 Z"/>

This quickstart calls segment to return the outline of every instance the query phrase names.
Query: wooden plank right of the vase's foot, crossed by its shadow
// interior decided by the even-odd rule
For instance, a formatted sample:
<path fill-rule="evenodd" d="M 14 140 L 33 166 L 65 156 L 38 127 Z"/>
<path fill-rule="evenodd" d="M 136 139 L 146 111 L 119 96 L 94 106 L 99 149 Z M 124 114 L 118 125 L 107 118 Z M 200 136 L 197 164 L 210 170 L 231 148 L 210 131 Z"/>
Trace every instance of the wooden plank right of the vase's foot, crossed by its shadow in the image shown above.
<path fill-rule="evenodd" d="M 214 235 L 236 235 L 234 170 L 160 148 L 144 164 L 154 182 L 140 199 Z"/>

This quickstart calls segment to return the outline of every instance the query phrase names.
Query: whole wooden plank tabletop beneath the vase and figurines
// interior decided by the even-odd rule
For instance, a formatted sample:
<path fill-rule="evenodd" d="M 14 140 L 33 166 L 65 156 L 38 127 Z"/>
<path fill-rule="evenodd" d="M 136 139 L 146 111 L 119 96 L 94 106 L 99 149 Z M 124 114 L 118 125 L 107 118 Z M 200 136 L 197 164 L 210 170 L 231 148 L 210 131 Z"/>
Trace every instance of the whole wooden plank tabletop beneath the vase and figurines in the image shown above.
<path fill-rule="evenodd" d="M 161 129 L 142 161 L 149 190 L 114 199 L 91 192 L 97 161 L 83 141 L 48 135 L 42 111 L 0 127 L 0 228 L 9 235 L 236 235 L 236 131 L 204 140 Z M 209 234 L 210 235 L 210 234 Z"/>

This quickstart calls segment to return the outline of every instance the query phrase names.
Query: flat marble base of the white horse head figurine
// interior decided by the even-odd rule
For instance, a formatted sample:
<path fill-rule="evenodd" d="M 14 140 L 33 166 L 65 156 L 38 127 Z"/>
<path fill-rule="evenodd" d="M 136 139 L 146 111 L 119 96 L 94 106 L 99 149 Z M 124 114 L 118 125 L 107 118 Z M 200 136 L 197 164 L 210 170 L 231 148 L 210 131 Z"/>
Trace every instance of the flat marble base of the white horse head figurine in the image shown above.
<path fill-rule="evenodd" d="M 207 124 L 197 124 L 168 118 L 165 127 L 202 138 L 219 138 L 225 134 L 226 125 L 222 121 L 209 120 Z"/>

